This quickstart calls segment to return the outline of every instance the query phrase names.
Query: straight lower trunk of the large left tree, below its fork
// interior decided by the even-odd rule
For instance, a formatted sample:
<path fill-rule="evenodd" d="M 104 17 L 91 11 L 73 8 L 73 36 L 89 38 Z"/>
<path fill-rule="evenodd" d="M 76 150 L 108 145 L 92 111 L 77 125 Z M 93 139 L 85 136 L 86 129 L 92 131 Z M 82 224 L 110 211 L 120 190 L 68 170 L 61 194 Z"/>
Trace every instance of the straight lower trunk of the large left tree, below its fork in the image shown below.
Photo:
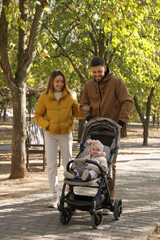
<path fill-rule="evenodd" d="M 13 87 L 12 165 L 10 178 L 26 175 L 26 83 Z"/>

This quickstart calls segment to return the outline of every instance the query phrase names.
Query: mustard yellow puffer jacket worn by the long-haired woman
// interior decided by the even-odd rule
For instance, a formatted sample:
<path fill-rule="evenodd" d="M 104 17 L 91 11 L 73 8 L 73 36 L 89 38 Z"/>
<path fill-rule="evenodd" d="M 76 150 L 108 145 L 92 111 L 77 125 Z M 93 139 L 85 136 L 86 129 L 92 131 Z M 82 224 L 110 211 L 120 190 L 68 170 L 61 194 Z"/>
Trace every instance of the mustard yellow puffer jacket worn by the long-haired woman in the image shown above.
<path fill-rule="evenodd" d="M 65 89 L 59 101 L 52 91 L 39 97 L 35 121 L 44 130 L 55 134 L 69 133 L 74 129 L 74 117 L 83 118 L 77 100 Z"/>

